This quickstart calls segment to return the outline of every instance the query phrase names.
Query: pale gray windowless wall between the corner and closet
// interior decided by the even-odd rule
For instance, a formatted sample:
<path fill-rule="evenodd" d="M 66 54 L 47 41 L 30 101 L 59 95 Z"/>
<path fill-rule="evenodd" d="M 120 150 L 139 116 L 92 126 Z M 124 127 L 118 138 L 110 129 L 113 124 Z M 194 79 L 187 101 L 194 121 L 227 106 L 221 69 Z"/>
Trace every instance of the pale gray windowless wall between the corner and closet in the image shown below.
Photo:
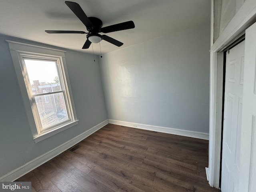
<path fill-rule="evenodd" d="M 103 55 L 108 118 L 209 132 L 210 23 Z"/>

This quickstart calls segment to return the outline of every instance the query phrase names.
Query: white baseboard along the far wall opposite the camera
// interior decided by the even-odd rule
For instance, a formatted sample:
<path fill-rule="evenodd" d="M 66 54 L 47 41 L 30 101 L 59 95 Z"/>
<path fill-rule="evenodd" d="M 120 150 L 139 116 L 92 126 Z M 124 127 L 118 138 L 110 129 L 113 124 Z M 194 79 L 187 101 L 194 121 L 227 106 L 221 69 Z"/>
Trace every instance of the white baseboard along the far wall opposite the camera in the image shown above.
<path fill-rule="evenodd" d="M 156 131 L 156 132 L 169 133 L 169 134 L 174 134 L 174 135 L 209 140 L 209 133 L 204 133 L 204 132 L 197 132 L 197 131 L 190 131 L 190 130 L 183 130 L 183 129 L 176 129 L 176 128 L 168 128 L 168 127 L 160 127 L 160 126 L 118 121 L 118 120 L 112 120 L 112 119 L 109 119 L 108 122 L 111 124 L 122 125 L 122 126 L 127 126 L 127 127 L 133 127 L 133 128 L 144 129 L 144 130 L 150 130 L 150 131 Z"/>

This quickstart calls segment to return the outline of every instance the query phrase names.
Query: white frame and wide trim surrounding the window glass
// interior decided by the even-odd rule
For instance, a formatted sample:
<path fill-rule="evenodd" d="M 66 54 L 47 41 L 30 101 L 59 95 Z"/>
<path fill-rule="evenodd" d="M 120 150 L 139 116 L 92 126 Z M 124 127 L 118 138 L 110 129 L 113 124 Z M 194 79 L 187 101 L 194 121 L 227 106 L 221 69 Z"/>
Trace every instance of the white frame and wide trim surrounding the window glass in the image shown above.
<path fill-rule="evenodd" d="M 30 130 L 32 132 L 34 141 L 36 143 L 40 142 L 46 138 L 49 138 L 50 136 L 58 134 L 63 130 L 66 130 L 78 124 L 78 119 L 76 116 L 76 110 L 70 86 L 70 80 L 68 76 L 68 70 L 66 66 L 65 51 L 20 42 L 14 42 L 10 40 L 6 41 L 9 44 L 10 53 L 12 56 L 14 68 L 20 85 L 20 90 L 22 93 L 22 98 L 24 101 L 24 106 L 26 109 Z M 34 99 L 34 97 L 30 96 L 31 94 L 29 92 L 31 92 L 31 90 L 28 89 L 30 86 L 28 86 L 28 81 L 26 80 L 26 70 L 24 70 L 24 65 L 22 63 L 24 57 L 45 59 L 50 58 L 58 62 L 58 72 L 60 73 L 60 78 L 62 78 L 62 80 L 60 79 L 60 83 L 64 87 L 64 91 L 66 94 L 66 98 L 64 98 L 66 106 L 68 106 L 67 113 L 69 116 L 69 120 L 64 121 L 64 123 L 57 124 L 56 126 L 50 127 L 48 129 L 42 129 L 42 127 L 40 127 L 41 121 L 39 118 L 39 114 L 36 110 L 36 107 L 33 106 L 33 103 L 36 104 L 36 100 Z"/>

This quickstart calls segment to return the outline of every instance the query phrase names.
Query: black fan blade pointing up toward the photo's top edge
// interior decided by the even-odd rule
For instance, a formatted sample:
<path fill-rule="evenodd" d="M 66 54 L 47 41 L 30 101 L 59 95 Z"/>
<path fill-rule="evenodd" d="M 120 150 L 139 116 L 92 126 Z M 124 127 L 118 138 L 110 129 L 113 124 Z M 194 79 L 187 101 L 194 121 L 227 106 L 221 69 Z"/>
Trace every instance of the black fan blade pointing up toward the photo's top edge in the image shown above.
<path fill-rule="evenodd" d="M 92 28 L 93 25 L 80 7 L 80 5 L 76 2 L 70 2 L 70 1 L 65 1 L 66 5 L 76 14 L 76 16 L 82 21 L 82 23 L 88 27 Z"/>

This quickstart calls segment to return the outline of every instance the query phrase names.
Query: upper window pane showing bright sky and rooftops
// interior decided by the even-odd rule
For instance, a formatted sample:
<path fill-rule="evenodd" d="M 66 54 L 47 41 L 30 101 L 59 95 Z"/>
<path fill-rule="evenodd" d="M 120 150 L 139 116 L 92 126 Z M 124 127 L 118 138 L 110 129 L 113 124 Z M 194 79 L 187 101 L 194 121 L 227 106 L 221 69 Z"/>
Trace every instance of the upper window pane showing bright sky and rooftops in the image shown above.
<path fill-rule="evenodd" d="M 56 62 L 24 59 L 33 94 L 60 91 Z"/>

